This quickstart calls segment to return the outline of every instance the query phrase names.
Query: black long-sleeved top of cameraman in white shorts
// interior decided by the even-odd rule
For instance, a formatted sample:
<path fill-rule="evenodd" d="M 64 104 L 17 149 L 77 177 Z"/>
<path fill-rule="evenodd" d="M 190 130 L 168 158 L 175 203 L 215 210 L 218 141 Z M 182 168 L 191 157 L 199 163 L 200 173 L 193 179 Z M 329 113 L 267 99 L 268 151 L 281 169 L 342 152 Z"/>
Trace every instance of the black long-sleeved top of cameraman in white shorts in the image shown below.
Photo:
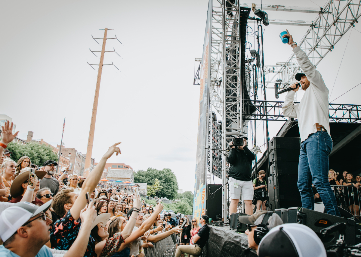
<path fill-rule="evenodd" d="M 252 174 L 252 161 L 256 158 L 247 146 L 241 149 L 232 148 L 228 155 L 229 176 L 237 180 L 250 181 Z"/>

